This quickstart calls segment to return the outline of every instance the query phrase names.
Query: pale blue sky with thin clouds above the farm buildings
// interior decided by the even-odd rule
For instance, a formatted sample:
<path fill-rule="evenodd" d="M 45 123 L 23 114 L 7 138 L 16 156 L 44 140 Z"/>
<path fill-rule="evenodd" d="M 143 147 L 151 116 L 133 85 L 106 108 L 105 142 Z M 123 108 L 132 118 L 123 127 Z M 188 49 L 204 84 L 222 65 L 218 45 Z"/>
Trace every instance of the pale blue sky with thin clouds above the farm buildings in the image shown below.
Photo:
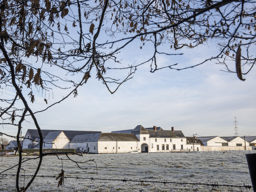
<path fill-rule="evenodd" d="M 104 36 L 99 38 L 104 41 Z M 140 50 L 140 43 L 138 39 L 118 54 L 124 65 L 139 64 L 152 56 L 152 47 L 146 44 Z M 161 49 L 169 50 L 170 46 L 164 44 Z M 197 64 L 217 51 L 216 42 L 177 52 L 170 50 L 170 53 L 184 54 L 157 55 L 157 64 L 161 67 L 179 63 L 182 68 Z M 225 69 L 224 66 L 215 62 L 209 61 L 180 71 L 162 69 L 154 73 L 150 72 L 149 64 L 142 65 L 133 78 L 122 84 L 114 94 L 108 92 L 106 86 L 95 78 L 95 71 L 92 71 L 92 78 L 78 89 L 76 98 L 71 95 L 60 104 L 37 113 L 36 118 L 41 129 L 111 132 L 133 129 L 137 125 L 145 128 L 157 126 L 164 130 L 171 130 L 173 126 L 174 130 L 181 130 L 185 136 L 234 136 L 236 117 L 239 136 L 256 136 L 256 68 L 252 68 L 244 76 L 246 80 L 241 81 L 236 73 L 220 71 Z M 235 70 L 235 62 L 229 64 Z M 56 68 L 51 70 L 57 71 Z M 122 79 L 128 71 L 116 69 L 107 73 Z M 81 80 L 82 77 L 80 74 L 74 78 Z M 64 83 L 60 85 L 66 86 Z M 14 93 L 12 88 L 7 88 L 0 96 L 12 97 Z M 37 111 L 66 94 L 67 90 L 54 89 L 53 95 L 46 96 L 48 105 L 40 91 L 35 95 L 33 104 L 28 96 L 27 100 L 32 110 Z M 23 123 L 24 134 L 27 129 L 36 129 L 31 122 L 27 117 Z M 15 135 L 16 131 L 17 128 L 11 125 L 0 127 L 0 132 L 7 134 Z"/>

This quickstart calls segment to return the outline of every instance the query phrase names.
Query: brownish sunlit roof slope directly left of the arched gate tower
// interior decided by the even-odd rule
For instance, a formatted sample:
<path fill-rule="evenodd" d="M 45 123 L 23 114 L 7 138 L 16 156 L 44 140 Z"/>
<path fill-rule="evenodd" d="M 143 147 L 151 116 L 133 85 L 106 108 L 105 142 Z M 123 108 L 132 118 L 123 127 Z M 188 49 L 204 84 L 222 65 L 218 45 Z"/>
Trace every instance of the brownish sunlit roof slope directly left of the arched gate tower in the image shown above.
<path fill-rule="evenodd" d="M 99 141 L 139 141 L 132 133 L 100 133 Z"/>

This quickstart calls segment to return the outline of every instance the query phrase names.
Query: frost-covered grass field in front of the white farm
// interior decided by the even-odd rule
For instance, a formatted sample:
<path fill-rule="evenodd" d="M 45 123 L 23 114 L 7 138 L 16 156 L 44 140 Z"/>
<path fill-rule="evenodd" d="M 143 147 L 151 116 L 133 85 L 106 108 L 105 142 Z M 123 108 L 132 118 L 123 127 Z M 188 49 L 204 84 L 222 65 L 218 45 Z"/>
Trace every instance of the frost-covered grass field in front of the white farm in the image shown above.
<path fill-rule="evenodd" d="M 256 152 L 256 151 L 250 151 Z M 248 153 L 248 151 L 246 151 Z M 66 156 L 59 156 L 65 158 Z M 214 183 L 228 185 L 251 185 L 250 174 L 246 162 L 245 152 L 231 151 L 231 153 L 195 152 L 195 153 L 144 153 L 144 154 L 90 154 L 78 157 L 70 156 L 76 161 L 94 159 L 98 166 L 96 175 L 95 163 L 83 164 L 86 170 L 79 169 L 71 161 L 63 161 L 65 176 L 93 177 L 106 179 L 132 179 L 174 181 L 191 183 Z M 0 158 L 0 171 L 18 162 L 18 157 Z M 33 174 L 37 160 L 24 163 L 25 174 Z M 224 164 L 222 164 L 224 163 Z M 55 175 L 61 172 L 61 161 L 56 156 L 47 156 L 38 175 Z M 16 169 L 5 173 L 15 174 Z M 20 183 L 23 184 L 21 177 Z M 1 178 L 0 191 L 15 191 L 15 177 Z M 25 182 L 28 178 L 25 178 Z M 55 178 L 36 178 L 28 191 L 211 191 L 212 187 L 204 185 L 157 184 L 122 181 L 76 180 L 67 179 L 63 186 L 57 188 Z M 213 191 L 246 191 L 245 188 L 220 187 Z M 252 189 L 247 190 L 252 191 Z"/>

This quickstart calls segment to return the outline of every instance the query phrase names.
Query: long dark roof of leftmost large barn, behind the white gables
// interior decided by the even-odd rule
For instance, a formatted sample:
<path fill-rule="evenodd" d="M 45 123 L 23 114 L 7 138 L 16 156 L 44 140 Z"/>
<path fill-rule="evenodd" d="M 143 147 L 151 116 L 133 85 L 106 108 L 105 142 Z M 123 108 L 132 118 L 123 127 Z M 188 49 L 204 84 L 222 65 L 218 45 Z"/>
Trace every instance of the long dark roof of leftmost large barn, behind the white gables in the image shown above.
<path fill-rule="evenodd" d="M 84 135 L 84 134 L 91 134 L 91 133 L 101 133 L 101 131 L 69 131 L 69 130 L 48 130 L 48 129 L 41 129 L 43 139 L 48 135 L 49 132 L 56 132 L 56 131 L 63 131 L 64 134 L 68 137 L 69 140 L 72 140 L 76 135 Z M 36 140 L 39 138 L 39 134 L 37 129 L 28 129 L 32 140 Z"/>

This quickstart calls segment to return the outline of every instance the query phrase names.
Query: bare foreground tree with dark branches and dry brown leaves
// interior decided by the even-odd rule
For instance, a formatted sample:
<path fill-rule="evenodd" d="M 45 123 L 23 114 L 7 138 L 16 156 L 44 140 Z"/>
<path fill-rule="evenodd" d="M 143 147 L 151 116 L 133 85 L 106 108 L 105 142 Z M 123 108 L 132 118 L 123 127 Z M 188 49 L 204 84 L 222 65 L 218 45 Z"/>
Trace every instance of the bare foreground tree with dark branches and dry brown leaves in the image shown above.
<path fill-rule="evenodd" d="M 1 125 L 18 128 L 12 137 L 18 142 L 19 152 L 22 122 L 27 116 L 33 119 L 40 137 L 38 168 L 23 191 L 31 185 L 43 157 L 48 155 L 42 152 L 43 137 L 36 113 L 71 95 L 76 97 L 78 88 L 92 75 L 113 94 L 140 65 L 149 64 L 150 71 L 155 72 L 193 68 L 212 61 L 224 65 L 221 70 L 237 73 L 244 80 L 242 75 L 255 63 L 253 0 L 2 0 L 0 9 L 0 91 L 16 93 L 11 99 L 0 98 Z M 158 67 L 160 55 L 172 58 L 212 40 L 218 44 L 218 54 L 188 67 L 179 67 L 178 63 Z M 118 54 L 133 43 L 140 43 L 140 49 L 147 47 L 151 55 L 140 63 L 122 63 Z M 162 51 L 166 44 L 170 50 Z M 234 71 L 230 65 L 236 65 Z M 110 69 L 127 69 L 128 75 L 120 79 L 108 76 Z M 65 82 L 65 86 L 60 82 Z M 56 89 L 66 90 L 66 96 L 48 104 L 49 95 Z M 36 92 L 43 95 L 48 105 L 40 111 L 30 107 L 37 100 Z M 19 154 L 18 192 L 22 166 Z"/>

